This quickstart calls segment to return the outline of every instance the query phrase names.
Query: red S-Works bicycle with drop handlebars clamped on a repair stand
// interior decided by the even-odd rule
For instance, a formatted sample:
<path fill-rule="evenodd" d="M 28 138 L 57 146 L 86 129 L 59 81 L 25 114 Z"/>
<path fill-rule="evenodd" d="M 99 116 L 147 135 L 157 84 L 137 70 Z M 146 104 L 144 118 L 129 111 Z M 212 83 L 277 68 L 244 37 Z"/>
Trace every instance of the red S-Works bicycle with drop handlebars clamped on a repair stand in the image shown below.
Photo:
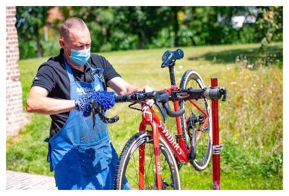
<path fill-rule="evenodd" d="M 179 169 L 190 163 L 196 170 L 204 170 L 211 156 L 212 122 L 208 100 L 219 100 L 225 88 L 205 87 L 195 70 L 187 70 L 176 86 L 174 65 L 183 58 L 181 49 L 163 55 L 163 67 L 169 67 L 171 87 L 154 92 L 136 92 L 116 96 L 116 102 L 132 102 L 129 108 L 142 113 L 139 132 L 124 146 L 115 171 L 114 189 L 123 189 L 126 178 L 131 189 L 181 189 Z M 162 118 L 145 100 L 154 99 Z M 173 102 L 174 111 L 169 107 Z M 141 109 L 133 105 L 140 103 Z M 177 135 L 166 128 L 166 117 L 176 119 Z M 115 122 L 102 115 L 104 122 Z M 162 120 L 163 121 L 162 121 Z M 151 130 L 147 130 L 147 127 Z"/>

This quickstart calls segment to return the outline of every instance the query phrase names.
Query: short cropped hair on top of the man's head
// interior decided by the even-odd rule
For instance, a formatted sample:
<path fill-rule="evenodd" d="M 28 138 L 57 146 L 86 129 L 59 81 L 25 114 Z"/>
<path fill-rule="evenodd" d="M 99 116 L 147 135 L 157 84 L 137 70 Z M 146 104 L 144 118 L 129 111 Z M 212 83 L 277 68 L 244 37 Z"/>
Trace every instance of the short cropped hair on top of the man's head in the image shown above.
<path fill-rule="evenodd" d="M 71 17 L 68 18 L 61 24 L 60 27 L 60 38 L 67 41 L 67 39 L 71 39 L 70 30 L 78 28 L 78 29 L 85 29 L 87 28 L 85 22 L 79 18 Z"/>

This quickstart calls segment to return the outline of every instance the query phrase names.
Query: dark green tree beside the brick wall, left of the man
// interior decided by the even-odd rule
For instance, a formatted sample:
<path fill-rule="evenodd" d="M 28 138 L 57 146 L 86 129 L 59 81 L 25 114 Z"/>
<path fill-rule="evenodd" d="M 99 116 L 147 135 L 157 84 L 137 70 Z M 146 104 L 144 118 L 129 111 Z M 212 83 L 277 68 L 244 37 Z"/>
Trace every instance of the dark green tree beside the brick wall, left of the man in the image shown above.
<path fill-rule="evenodd" d="M 42 45 L 40 43 L 40 28 L 47 24 L 48 6 L 16 7 L 16 27 L 18 37 L 29 41 L 35 39 L 38 57 L 42 57 Z"/>

